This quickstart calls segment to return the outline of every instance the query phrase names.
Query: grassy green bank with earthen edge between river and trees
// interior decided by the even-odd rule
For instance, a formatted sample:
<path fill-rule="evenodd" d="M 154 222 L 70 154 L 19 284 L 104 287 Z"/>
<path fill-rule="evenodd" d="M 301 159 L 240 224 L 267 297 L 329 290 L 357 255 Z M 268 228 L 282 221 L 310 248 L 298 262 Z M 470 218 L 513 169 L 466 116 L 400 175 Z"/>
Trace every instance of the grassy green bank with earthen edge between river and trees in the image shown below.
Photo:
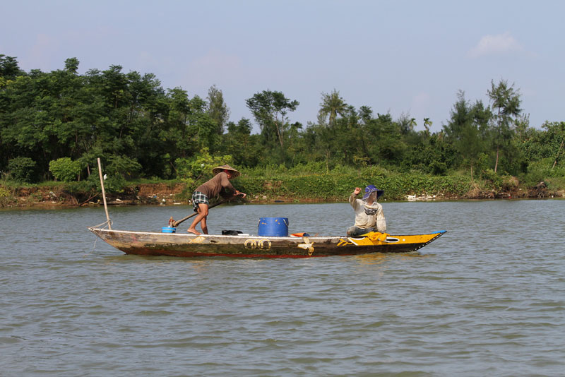
<path fill-rule="evenodd" d="M 0 206 L 93 205 L 101 203 L 100 181 L 23 185 L 0 183 Z M 109 181 L 105 184 L 110 204 L 188 203 L 194 188 L 205 181 L 138 180 Z M 323 165 L 286 169 L 268 167 L 242 169 L 233 181 L 248 194 L 249 203 L 309 203 L 345 201 L 353 188 L 374 184 L 385 193 L 382 200 L 466 199 L 466 198 L 549 198 L 565 196 L 563 179 L 547 179 L 537 184 L 521 184 L 513 176 L 492 176 L 472 180 L 468 174 L 434 176 L 420 172 L 391 172 L 381 167 L 336 167 Z"/>

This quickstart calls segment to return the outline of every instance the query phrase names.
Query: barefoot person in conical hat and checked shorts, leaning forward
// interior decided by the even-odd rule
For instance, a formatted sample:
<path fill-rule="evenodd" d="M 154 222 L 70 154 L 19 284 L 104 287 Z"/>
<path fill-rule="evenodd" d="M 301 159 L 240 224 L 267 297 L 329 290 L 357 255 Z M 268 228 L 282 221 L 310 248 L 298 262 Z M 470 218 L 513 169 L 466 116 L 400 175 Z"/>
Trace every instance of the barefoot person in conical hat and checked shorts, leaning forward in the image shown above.
<path fill-rule="evenodd" d="M 208 226 L 206 225 L 206 218 L 208 217 L 208 206 L 210 205 L 210 198 L 215 198 L 220 194 L 223 198 L 232 198 L 233 196 L 246 197 L 245 193 L 237 191 L 230 179 L 237 178 L 241 175 L 230 165 L 222 165 L 212 169 L 214 175 L 213 179 L 201 184 L 192 193 L 192 206 L 194 212 L 198 213 L 192 222 L 192 225 L 187 229 L 187 232 L 194 234 L 201 234 L 196 230 L 196 225 L 200 223 L 203 234 L 208 234 Z"/>

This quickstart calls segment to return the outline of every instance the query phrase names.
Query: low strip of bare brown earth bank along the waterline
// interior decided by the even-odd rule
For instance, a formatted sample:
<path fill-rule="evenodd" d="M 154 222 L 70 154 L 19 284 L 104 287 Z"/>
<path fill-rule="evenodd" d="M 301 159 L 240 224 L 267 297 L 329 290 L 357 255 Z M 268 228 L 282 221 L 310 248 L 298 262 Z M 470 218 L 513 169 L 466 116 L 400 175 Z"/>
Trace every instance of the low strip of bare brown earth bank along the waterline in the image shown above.
<path fill-rule="evenodd" d="M 244 182 L 241 182 L 244 183 Z M 241 185 L 240 185 L 241 186 Z M 265 180 L 260 184 L 249 182 L 243 186 L 261 186 L 254 191 L 242 191 L 248 196 L 237 201 L 244 203 L 335 203 L 346 201 L 348 191 L 343 193 L 323 195 L 305 195 L 299 192 L 289 192 L 281 188 L 282 184 L 276 180 Z M 506 189 L 496 189 L 478 184 L 470 185 L 465 193 L 450 191 L 424 191 L 404 193 L 399 196 L 384 196 L 381 201 L 453 201 L 468 199 L 512 199 L 512 198 L 565 198 L 565 191 L 552 190 L 547 184 L 540 182 L 536 186 L 527 188 L 519 185 Z M 71 193 L 64 184 L 53 186 L 19 186 L 8 188 L 0 186 L 0 207 L 78 207 L 89 205 L 102 205 L 100 193 Z M 126 186 L 120 193 L 107 193 L 108 205 L 186 205 L 189 204 L 189 195 L 184 183 L 157 183 L 157 184 L 132 184 Z"/>

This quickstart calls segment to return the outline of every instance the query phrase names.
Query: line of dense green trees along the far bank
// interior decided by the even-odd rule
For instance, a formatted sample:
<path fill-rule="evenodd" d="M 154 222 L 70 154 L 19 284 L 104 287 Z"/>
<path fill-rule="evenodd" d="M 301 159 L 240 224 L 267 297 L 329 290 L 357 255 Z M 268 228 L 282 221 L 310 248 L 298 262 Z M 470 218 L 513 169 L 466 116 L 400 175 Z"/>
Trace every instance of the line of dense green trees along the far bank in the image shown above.
<path fill-rule="evenodd" d="M 563 176 L 565 122 L 530 127 L 520 90 L 506 80 L 490 83 L 488 103 L 458 92 L 434 133 L 429 118 L 393 119 L 347 104 L 338 90 L 322 92 L 318 119 L 303 124 L 291 120 L 297 100 L 263 90 L 245 100 L 261 130 L 251 133 L 251 119 L 230 121 L 215 86 L 206 98 L 191 97 L 179 87 L 163 89 L 152 73 L 124 73 L 115 65 L 81 75 L 78 65 L 70 58 L 56 71 L 25 72 L 15 57 L 0 55 L 5 178 L 88 179 L 97 157 L 124 179 L 176 179 L 214 159 L 249 168 L 315 162 L 326 171 L 380 165 L 436 175 Z M 423 131 L 416 131 L 418 123 Z"/>

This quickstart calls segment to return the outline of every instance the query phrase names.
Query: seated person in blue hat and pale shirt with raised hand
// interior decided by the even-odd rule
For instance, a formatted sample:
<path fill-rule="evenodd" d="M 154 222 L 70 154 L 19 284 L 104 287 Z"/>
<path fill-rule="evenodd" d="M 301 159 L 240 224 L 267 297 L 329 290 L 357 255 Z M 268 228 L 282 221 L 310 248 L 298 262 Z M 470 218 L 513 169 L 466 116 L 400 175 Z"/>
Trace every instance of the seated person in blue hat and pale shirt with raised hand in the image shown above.
<path fill-rule="evenodd" d="M 349 203 L 355 210 L 355 225 L 347 229 L 347 236 L 356 237 L 369 232 L 386 232 L 383 206 L 376 203 L 384 191 L 369 184 L 365 187 L 363 199 L 357 199 L 360 192 L 361 188 L 355 187 L 349 197 Z"/>

